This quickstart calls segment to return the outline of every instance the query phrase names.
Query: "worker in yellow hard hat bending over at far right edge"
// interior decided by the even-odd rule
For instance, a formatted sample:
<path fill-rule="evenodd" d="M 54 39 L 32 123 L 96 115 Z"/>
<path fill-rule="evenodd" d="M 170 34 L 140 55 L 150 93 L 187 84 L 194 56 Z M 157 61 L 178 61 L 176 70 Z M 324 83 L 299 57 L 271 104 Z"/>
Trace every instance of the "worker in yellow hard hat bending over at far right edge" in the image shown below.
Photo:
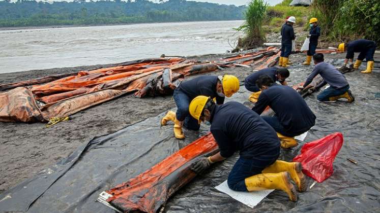
<path fill-rule="evenodd" d="M 346 58 L 344 60 L 344 66 L 347 66 L 348 60 L 354 62 L 354 53 L 359 53 L 358 59 L 355 61 L 354 69 L 359 69 L 363 59 L 367 60 L 367 69 L 360 73 L 372 73 L 373 69 L 373 55 L 375 54 L 376 43 L 370 40 L 356 40 L 348 42 L 347 44 L 341 43 L 338 46 L 339 52 L 347 51 Z"/>

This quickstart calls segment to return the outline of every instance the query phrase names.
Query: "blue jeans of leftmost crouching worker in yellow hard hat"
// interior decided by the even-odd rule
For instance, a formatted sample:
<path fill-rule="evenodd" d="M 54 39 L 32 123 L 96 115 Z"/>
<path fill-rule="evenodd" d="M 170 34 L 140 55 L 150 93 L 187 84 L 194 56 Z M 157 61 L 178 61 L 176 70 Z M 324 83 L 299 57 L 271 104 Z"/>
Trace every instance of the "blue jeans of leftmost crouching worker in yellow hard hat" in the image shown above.
<path fill-rule="evenodd" d="M 180 89 L 175 89 L 173 98 L 177 105 L 176 117 L 177 120 L 184 122 L 184 127 L 191 130 L 199 130 L 200 125 L 198 121 L 193 118 L 189 113 L 189 105 L 191 99 Z"/>

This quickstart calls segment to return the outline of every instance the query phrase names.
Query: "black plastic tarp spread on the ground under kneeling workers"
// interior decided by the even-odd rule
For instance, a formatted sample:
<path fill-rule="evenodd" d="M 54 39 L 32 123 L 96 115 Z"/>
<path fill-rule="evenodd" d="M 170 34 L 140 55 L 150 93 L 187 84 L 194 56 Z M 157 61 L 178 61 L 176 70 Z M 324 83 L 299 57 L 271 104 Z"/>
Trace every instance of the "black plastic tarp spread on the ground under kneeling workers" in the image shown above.
<path fill-rule="evenodd" d="M 336 64 L 341 64 L 339 60 Z M 294 66 L 290 69 L 290 85 L 305 80 L 312 67 Z M 354 103 L 316 101 L 316 94 L 306 98 L 317 116 L 316 125 L 305 139 L 312 141 L 333 132 L 342 132 L 343 147 L 334 162 L 334 174 L 299 194 L 298 202 L 288 201 L 281 191 L 272 192 L 254 211 L 310 212 L 374 212 L 380 210 L 380 75 L 358 71 L 345 74 L 356 96 Z M 247 101 L 244 86 L 233 95 L 239 102 Z M 228 99 L 231 100 L 231 99 Z M 160 126 L 163 114 L 148 118 L 109 135 L 96 137 L 79 147 L 68 159 L 41 171 L 32 179 L 0 195 L 0 212 L 113 212 L 96 202 L 107 189 L 126 182 L 151 168 L 208 131 L 185 131 L 186 139 L 173 137 L 172 126 Z M 281 159 L 290 161 L 303 143 L 293 150 L 282 150 Z M 352 158 L 353 164 L 346 160 Z M 245 212 L 252 208 L 230 198 L 216 189 L 227 179 L 229 170 L 238 159 L 235 155 L 213 165 L 198 175 L 165 206 L 167 212 Z M 309 179 L 309 185 L 313 181 Z"/>

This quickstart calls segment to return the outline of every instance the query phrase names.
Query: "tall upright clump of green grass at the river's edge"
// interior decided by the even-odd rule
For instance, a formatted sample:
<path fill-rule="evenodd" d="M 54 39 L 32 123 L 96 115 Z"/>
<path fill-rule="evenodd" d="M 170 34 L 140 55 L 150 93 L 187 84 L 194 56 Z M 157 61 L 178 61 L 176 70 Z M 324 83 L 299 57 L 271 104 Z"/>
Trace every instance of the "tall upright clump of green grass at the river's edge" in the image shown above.
<path fill-rule="evenodd" d="M 251 0 L 247 10 L 244 13 L 245 22 L 238 28 L 238 31 L 244 31 L 245 38 L 243 46 L 256 46 L 265 40 L 265 34 L 262 30 L 262 21 L 266 17 L 268 4 L 264 0 Z"/>

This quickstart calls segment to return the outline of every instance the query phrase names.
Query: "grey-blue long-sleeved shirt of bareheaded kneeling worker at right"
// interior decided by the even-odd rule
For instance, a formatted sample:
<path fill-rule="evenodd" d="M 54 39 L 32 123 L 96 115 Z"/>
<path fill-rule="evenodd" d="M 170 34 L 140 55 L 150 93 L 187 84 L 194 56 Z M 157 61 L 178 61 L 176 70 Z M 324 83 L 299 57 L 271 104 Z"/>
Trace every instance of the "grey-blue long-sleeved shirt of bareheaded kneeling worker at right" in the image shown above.
<path fill-rule="evenodd" d="M 313 71 L 305 81 L 304 87 L 309 85 L 318 74 L 323 78 L 323 82 L 315 86 L 316 88 L 329 84 L 335 89 L 340 89 L 348 85 L 346 78 L 335 68 L 335 66 L 326 62 L 320 62 L 314 66 Z"/>

